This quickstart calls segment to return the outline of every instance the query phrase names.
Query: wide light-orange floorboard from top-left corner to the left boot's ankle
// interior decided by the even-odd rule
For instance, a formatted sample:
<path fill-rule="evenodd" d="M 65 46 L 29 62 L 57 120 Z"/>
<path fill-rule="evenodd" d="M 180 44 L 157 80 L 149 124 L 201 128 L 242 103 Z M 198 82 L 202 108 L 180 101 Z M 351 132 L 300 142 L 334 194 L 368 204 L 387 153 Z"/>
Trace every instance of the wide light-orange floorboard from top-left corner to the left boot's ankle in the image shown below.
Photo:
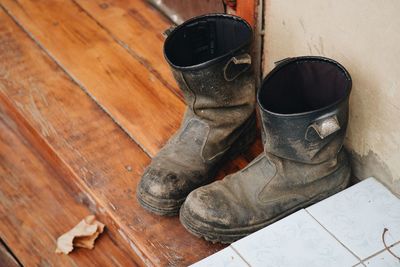
<path fill-rule="evenodd" d="M 1 4 L 150 155 L 179 126 L 183 102 L 74 2 Z"/>

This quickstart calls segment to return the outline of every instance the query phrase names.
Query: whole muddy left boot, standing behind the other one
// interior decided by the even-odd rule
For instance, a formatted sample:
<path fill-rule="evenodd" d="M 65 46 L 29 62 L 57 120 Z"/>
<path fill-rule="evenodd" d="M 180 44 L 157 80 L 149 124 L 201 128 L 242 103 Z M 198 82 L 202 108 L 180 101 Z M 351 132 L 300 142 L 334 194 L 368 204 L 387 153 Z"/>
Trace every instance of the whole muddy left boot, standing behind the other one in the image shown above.
<path fill-rule="evenodd" d="M 213 181 L 221 163 L 256 135 L 252 30 L 223 14 L 174 29 L 164 54 L 187 105 L 180 129 L 153 158 L 137 189 L 140 204 L 174 215 L 194 189 Z"/>

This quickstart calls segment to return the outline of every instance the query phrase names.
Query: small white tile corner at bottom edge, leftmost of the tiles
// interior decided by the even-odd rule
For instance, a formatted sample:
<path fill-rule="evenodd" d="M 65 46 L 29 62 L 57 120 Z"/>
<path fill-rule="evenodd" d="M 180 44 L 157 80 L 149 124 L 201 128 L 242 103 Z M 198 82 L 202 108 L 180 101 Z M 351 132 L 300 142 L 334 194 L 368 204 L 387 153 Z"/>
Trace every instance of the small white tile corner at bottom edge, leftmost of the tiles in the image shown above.
<path fill-rule="evenodd" d="M 236 252 L 227 247 L 191 265 L 191 267 L 248 267 Z"/>

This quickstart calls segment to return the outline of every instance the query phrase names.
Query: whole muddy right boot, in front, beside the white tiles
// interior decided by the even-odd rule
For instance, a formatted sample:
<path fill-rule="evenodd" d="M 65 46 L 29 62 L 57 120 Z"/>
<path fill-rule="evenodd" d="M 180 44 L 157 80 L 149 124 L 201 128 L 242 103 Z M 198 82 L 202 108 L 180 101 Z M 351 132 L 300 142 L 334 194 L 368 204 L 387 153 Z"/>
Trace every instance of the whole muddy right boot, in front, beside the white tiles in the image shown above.
<path fill-rule="evenodd" d="M 182 224 L 206 240 L 231 243 L 344 189 L 350 90 L 348 72 L 333 60 L 281 62 L 258 92 L 264 153 L 190 193 Z"/>

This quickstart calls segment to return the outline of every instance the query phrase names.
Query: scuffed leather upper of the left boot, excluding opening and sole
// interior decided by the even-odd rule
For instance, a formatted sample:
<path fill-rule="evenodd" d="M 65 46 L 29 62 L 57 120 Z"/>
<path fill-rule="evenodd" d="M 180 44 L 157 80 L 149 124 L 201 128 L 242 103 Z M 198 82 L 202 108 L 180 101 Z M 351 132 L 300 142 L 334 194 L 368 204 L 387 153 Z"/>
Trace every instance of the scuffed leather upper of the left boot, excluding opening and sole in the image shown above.
<path fill-rule="evenodd" d="M 243 136 L 255 134 L 254 74 L 249 69 L 225 81 L 223 66 L 228 59 L 206 69 L 173 69 L 187 104 L 185 116 L 146 168 L 137 190 L 139 198 L 151 198 L 156 208 L 177 205 L 178 211 L 192 190 L 212 182 L 231 148 L 239 146 Z"/>

